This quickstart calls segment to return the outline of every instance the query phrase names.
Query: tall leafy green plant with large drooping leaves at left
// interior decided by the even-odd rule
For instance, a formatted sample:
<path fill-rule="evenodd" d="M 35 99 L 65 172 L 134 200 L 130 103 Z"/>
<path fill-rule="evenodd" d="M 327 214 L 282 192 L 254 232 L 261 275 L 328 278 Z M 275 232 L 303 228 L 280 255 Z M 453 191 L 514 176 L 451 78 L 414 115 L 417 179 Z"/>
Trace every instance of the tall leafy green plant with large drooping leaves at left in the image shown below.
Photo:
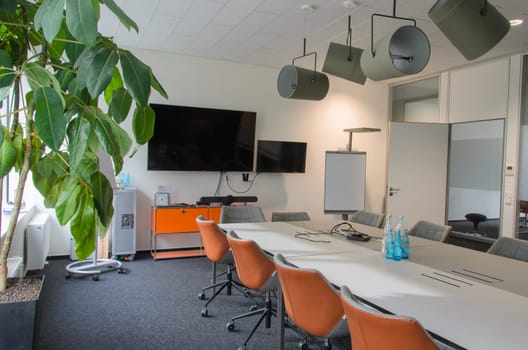
<path fill-rule="evenodd" d="M 0 185 L 18 173 L 0 251 L 0 294 L 13 288 L 7 259 L 26 179 L 58 221 L 70 224 L 75 253 L 85 259 L 113 215 L 112 187 L 96 154 L 106 152 L 118 174 L 134 141 L 137 147 L 152 136 L 151 88 L 166 97 L 149 66 L 98 32 L 101 6 L 138 31 L 114 0 L 0 0 L 0 101 L 7 110 Z M 120 126 L 129 114 L 134 141 Z"/>

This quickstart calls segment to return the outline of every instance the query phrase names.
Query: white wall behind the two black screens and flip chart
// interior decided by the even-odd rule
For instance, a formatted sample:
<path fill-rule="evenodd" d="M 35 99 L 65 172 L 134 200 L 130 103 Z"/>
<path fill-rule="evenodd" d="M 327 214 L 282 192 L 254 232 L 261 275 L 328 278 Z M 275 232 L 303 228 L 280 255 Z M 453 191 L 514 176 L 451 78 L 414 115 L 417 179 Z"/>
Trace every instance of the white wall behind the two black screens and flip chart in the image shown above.
<path fill-rule="evenodd" d="M 266 217 L 271 211 L 305 210 L 312 219 L 323 219 L 324 152 L 344 149 L 354 127 L 381 128 L 380 133 L 354 135 L 353 149 L 367 152 L 366 208 L 381 212 L 385 193 L 388 87 L 368 81 L 360 86 L 330 77 L 330 91 L 319 102 L 281 98 L 276 89 L 278 69 L 196 57 L 134 51 L 150 65 L 169 94 L 169 100 L 154 94 L 151 102 L 257 112 L 255 138 L 308 143 L 306 173 L 260 174 L 246 193 L 258 197 Z M 129 123 L 129 121 L 127 121 Z M 130 130 L 130 124 L 125 125 Z M 147 147 L 125 160 L 123 171 L 138 189 L 137 249 L 149 248 L 150 206 L 158 186 L 171 193 L 171 202 L 194 203 L 214 195 L 219 173 L 147 171 Z M 227 173 L 236 191 L 248 188 L 240 173 Z M 255 174 L 251 174 L 253 178 Z M 225 178 L 219 195 L 235 194 Z M 189 235 L 163 236 L 159 248 L 191 244 Z M 179 239 L 178 241 L 176 239 Z"/>

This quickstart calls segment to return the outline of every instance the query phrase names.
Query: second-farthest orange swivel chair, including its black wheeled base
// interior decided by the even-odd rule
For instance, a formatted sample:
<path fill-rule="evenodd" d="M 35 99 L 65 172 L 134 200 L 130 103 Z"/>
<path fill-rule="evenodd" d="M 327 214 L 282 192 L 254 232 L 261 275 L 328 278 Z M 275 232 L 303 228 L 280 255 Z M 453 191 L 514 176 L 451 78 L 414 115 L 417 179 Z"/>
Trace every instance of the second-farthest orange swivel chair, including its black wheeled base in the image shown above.
<path fill-rule="evenodd" d="M 233 252 L 240 281 L 248 288 L 265 293 L 266 297 L 266 303 L 263 308 L 235 316 L 227 324 L 227 329 L 233 331 L 235 329 L 235 320 L 260 315 L 257 323 L 244 341 L 244 345 L 239 347 L 239 349 L 245 349 L 249 339 L 253 336 L 263 320 L 265 320 L 266 328 L 271 327 L 271 316 L 276 316 L 275 310 L 271 307 L 271 293 L 277 290 L 278 281 L 273 261 L 262 251 L 257 243 L 251 240 L 241 239 L 233 231 L 227 233 L 227 240 Z"/>

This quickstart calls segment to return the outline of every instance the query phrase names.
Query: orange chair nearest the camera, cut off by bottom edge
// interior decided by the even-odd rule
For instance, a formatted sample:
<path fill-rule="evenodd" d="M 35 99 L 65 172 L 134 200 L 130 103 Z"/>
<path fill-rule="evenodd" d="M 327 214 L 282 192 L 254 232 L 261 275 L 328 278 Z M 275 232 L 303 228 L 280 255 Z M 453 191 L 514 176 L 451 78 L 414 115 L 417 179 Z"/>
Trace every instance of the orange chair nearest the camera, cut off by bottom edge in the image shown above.
<path fill-rule="evenodd" d="M 412 317 L 381 314 L 358 302 L 341 287 L 341 302 L 348 319 L 354 350 L 438 350 L 439 347 Z"/>

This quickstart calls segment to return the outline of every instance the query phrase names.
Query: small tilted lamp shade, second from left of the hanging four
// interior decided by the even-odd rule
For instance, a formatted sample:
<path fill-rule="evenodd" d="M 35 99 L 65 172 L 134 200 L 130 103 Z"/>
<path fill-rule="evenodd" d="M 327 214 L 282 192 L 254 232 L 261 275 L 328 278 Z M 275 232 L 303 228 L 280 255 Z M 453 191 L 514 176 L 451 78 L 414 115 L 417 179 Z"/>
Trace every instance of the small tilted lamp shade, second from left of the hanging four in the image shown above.
<path fill-rule="evenodd" d="M 363 85 L 367 77 L 363 74 L 359 63 L 362 53 L 363 49 L 357 47 L 330 43 L 323 72 Z"/>

